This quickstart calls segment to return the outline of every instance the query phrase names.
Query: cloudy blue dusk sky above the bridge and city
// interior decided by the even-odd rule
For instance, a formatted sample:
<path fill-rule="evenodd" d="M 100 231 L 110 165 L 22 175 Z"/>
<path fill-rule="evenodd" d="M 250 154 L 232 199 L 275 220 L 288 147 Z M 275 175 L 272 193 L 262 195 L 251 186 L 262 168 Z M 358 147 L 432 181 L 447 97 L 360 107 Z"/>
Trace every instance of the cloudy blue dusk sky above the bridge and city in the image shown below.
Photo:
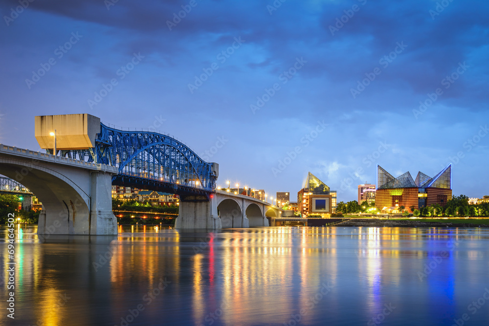
<path fill-rule="evenodd" d="M 489 195 L 489 2 L 282 1 L 1 1 L 0 143 L 89 113 L 292 201 L 309 171 L 356 200 L 377 164 Z"/>

